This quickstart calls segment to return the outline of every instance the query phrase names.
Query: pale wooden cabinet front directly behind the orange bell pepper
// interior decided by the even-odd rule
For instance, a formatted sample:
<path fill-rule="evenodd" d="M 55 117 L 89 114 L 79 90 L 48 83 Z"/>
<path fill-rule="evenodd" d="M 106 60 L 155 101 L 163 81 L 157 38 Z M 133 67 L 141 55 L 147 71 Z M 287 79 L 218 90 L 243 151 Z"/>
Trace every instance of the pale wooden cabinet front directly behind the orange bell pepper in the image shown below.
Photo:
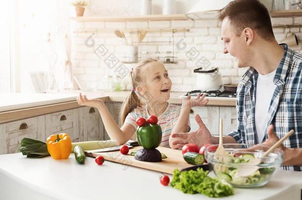
<path fill-rule="evenodd" d="M 80 139 L 79 110 L 72 109 L 45 116 L 46 136 L 56 133 L 67 133 L 72 142 Z"/>

